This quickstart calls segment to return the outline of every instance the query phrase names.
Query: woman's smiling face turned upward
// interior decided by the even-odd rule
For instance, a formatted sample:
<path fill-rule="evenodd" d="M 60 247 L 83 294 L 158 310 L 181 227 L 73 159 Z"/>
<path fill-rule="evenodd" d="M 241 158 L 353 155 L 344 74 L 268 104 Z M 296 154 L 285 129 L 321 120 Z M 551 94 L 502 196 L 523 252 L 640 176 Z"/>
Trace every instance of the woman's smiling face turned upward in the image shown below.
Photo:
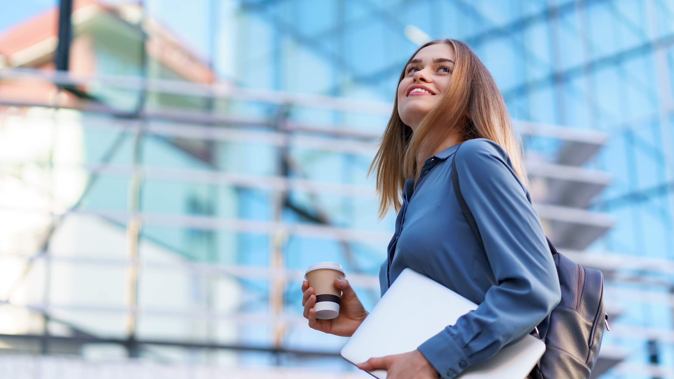
<path fill-rule="evenodd" d="M 412 131 L 447 92 L 453 69 L 454 51 L 446 43 L 421 49 L 405 67 L 398 85 L 398 115 Z"/>

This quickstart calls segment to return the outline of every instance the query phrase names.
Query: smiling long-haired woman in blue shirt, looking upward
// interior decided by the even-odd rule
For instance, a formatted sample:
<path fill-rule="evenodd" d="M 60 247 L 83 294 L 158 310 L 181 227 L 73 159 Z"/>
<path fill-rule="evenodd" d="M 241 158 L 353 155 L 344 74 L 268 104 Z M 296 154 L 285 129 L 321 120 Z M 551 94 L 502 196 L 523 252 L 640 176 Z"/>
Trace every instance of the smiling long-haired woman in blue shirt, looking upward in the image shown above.
<path fill-rule="evenodd" d="M 454 194 L 454 159 L 484 252 Z M 454 378 L 532 332 L 559 303 L 557 272 L 508 110 L 489 71 L 463 42 L 434 40 L 412 55 L 372 167 L 379 215 L 390 206 L 400 210 L 379 271 L 381 294 L 409 267 L 479 307 L 417 350 L 372 358 L 359 368 L 388 370 L 388 379 Z M 316 320 L 315 295 L 305 281 L 304 316 L 311 328 L 350 336 L 367 311 L 348 281 L 335 285 L 343 293 L 340 315 Z"/>

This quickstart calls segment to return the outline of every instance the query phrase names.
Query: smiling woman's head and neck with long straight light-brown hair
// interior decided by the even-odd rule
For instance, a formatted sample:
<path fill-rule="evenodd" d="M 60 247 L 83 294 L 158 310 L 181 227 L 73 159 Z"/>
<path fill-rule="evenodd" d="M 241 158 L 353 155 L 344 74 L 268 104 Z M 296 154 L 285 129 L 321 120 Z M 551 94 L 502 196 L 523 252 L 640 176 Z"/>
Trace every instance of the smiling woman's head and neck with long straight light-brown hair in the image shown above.
<path fill-rule="evenodd" d="M 416 88 L 431 96 L 412 92 Z M 372 164 L 377 174 L 379 216 L 391 206 L 400 208 L 400 190 L 406 178 L 419 177 L 418 163 L 473 138 L 499 144 L 508 152 L 519 179 L 528 183 L 510 114 L 487 67 L 464 42 L 428 42 L 410 57 L 400 74 L 393 114 Z"/>

